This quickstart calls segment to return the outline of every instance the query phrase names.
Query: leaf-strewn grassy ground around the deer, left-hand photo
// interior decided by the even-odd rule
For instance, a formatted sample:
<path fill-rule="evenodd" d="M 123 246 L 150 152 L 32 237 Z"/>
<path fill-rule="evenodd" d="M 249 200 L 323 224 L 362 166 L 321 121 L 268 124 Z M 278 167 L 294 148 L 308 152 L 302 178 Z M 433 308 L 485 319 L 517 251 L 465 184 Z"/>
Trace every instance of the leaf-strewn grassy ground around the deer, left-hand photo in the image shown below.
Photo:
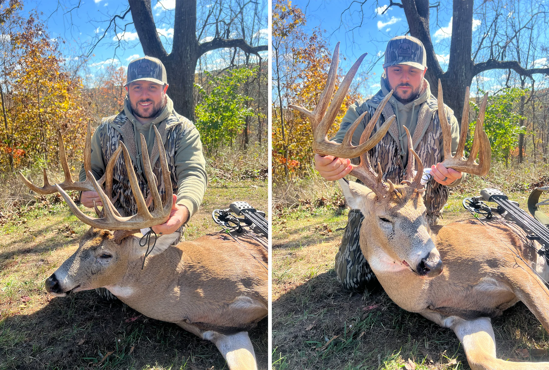
<path fill-rule="evenodd" d="M 266 181 L 210 183 L 187 240 L 219 231 L 212 210 L 236 200 L 267 211 Z M 48 295 L 44 280 L 76 250 L 88 227 L 63 202 L 44 203 L 0 227 L 0 369 L 227 368 L 209 341 L 120 301 L 101 301 L 94 291 Z M 259 367 L 266 369 L 267 318 L 250 337 Z"/>

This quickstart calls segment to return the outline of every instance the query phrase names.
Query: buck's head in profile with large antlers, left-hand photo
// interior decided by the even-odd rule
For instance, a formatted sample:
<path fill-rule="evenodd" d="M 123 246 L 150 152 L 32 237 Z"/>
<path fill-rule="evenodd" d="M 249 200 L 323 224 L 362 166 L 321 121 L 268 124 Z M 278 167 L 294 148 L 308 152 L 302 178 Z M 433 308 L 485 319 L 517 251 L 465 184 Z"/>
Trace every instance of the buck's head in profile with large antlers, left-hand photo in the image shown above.
<path fill-rule="evenodd" d="M 156 141 L 159 148 L 163 148 L 162 139 L 156 126 L 154 126 Z M 91 129 L 88 124 L 88 134 L 86 137 L 86 147 L 84 151 L 84 168 L 86 172 L 86 181 L 74 182 L 71 180 L 69 166 L 65 157 L 63 137 L 59 133 L 59 158 L 65 172 L 65 181 L 62 184 L 49 185 L 46 170 L 44 170 L 44 186 L 38 187 L 29 180 L 23 178 L 24 183 L 30 189 L 41 194 L 52 194 L 59 191 L 65 199 L 67 205 L 77 218 L 91 226 L 80 240 L 79 248 L 69 257 L 48 279 L 46 279 L 46 290 L 56 296 L 65 296 L 69 292 L 100 288 L 105 285 L 116 284 L 132 263 L 141 266 L 142 257 L 147 251 L 148 246 L 141 246 L 139 238 L 133 234 L 139 233 L 139 229 L 163 224 L 170 217 L 172 202 L 175 201 L 175 195 L 172 193 L 172 187 L 166 186 L 166 202 L 163 205 L 156 185 L 156 178 L 153 174 L 149 155 L 143 151 L 144 172 L 148 183 L 150 184 L 151 194 L 145 200 L 137 176 L 133 170 L 130 154 L 124 143 L 119 142 L 119 148 L 110 158 L 105 174 L 100 181 L 97 181 L 91 173 L 90 152 Z M 147 142 L 141 135 L 141 145 L 147 148 Z M 122 217 L 116 210 L 113 203 L 116 198 L 112 198 L 113 170 L 120 152 L 124 153 L 126 170 L 130 178 L 130 186 L 133 196 L 137 203 L 137 214 L 128 217 Z M 168 169 L 166 152 L 160 150 L 160 164 L 165 184 L 171 184 L 170 171 Z M 105 183 L 103 190 L 100 183 Z M 154 185 L 153 185 L 154 184 Z M 53 191 L 52 191 L 53 190 Z M 72 198 L 66 193 L 66 190 L 85 190 L 96 191 L 103 202 L 103 209 L 95 207 L 99 218 L 89 217 L 83 213 L 74 203 Z M 149 205 L 154 202 L 154 209 L 149 212 Z M 114 230 L 114 231 L 111 231 Z M 166 248 L 177 238 L 177 235 L 166 235 L 156 241 L 153 251 L 150 255 L 158 255 L 164 252 Z M 144 258 L 144 257 L 143 257 Z"/>

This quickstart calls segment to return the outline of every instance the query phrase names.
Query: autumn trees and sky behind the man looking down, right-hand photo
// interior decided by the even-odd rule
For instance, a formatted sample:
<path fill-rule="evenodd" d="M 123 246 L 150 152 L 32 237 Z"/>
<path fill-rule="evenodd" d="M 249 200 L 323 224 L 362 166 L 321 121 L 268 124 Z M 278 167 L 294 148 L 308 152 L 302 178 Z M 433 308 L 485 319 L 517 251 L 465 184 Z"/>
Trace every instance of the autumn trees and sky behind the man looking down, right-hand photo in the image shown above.
<path fill-rule="evenodd" d="M 309 6 L 308 3 L 305 5 Z M 408 33 L 420 38 L 427 48 L 428 73 L 425 78 L 430 82 L 432 93 L 436 95 L 436 82 L 440 78 L 445 103 L 454 110 L 460 125 L 464 89 L 473 84 L 479 87 L 470 92 L 473 109 L 468 118 L 469 139 L 479 99 L 484 94 L 480 88 L 483 86 L 481 81 L 497 79 L 496 89 L 486 89 L 490 98 L 485 119 L 495 167 L 498 163 L 505 168 L 522 168 L 548 162 L 547 4 L 511 0 L 466 1 L 453 2 L 452 10 L 452 3 L 447 3 L 448 11 L 453 12 L 453 28 L 451 20 L 447 27 L 449 30 L 439 21 L 438 12 L 443 6 L 439 2 L 355 1 L 341 5 L 345 6 L 340 7 L 339 14 L 330 14 L 330 18 L 341 19 L 337 30 L 347 30 L 345 38 L 350 38 L 351 45 L 360 53 L 368 51 L 370 54 L 375 50 L 370 49 L 368 40 L 355 38 L 354 32 L 367 23 L 383 19 L 380 17 L 391 8 L 404 8 Z M 290 203 L 293 201 L 285 194 L 293 194 L 293 191 L 288 191 L 288 187 L 300 180 L 315 178 L 316 174 L 310 149 L 310 124 L 304 115 L 287 107 L 288 104 L 302 105 L 311 110 L 315 107 L 325 84 L 334 47 L 329 45 L 329 36 L 334 30 L 314 27 L 324 22 L 319 14 L 310 21 L 307 11 L 316 7 L 311 4 L 309 8 L 301 8 L 288 0 L 273 2 L 273 189 L 277 199 Z M 395 17 L 391 16 L 385 24 L 394 21 Z M 378 24 L 383 24 L 382 20 Z M 451 41 L 443 56 L 433 50 L 441 30 L 451 33 Z M 371 37 L 377 37 L 378 41 L 379 37 L 385 37 L 388 41 L 395 36 L 388 35 L 390 32 L 382 35 L 381 31 L 380 35 Z M 337 131 L 350 104 L 369 97 L 361 87 L 378 81 L 381 71 L 373 69 L 373 65 L 383 60 L 383 51 L 371 59 L 368 56 L 363 62 L 328 136 Z M 340 60 L 344 60 L 342 64 L 354 62 L 354 59 L 345 62 L 345 55 L 340 54 Z M 374 78 L 376 72 L 378 75 Z M 346 70 L 340 68 L 338 81 L 344 73 Z M 492 75 L 497 77 L 492 79 Z M 290 187 L 293 189 L 295 186 Z"/>

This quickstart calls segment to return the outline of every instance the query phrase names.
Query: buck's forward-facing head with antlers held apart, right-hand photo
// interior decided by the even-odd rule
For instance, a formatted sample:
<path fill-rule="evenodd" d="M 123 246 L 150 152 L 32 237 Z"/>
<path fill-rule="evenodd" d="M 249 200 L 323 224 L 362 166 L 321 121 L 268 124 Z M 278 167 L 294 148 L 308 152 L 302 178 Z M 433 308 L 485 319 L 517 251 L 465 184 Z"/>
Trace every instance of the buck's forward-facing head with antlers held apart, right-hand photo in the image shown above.
<path fill-rule="evenodd" d="M 391 91 L 379 104 L 373 117 L 369 120 L 366 129 L 362 132 L 358 146 L 352 145 L 351 138 L 366 113 L 358 117 L 350 126 L 341 144 L 330 142 L 327 139 L 327 132 L 334 122 L 352 78 L 354 78 L 365 55 L 363 54 L 358 58 L 357 62 L 349 70 L 349 73 L 345 75 L 330 104 L 337 76 L 339 59 L 338 42 L 332 57 L 332 64 L 328 71 L 326 87 L 320 96 L 320 101 L 316 108 L 312 112 L 299 106 L 290 105 L 289 108 L 297 109 L 309 117 L 314 136 L 314 152 L 323 156 L 331 155 L 340 158 L 360 157 L 360 164 L 353 165 L 350 174 L 360 179 L 365 185 L 350 182 L 346 179 L 339 180 L 339 184 L 343 189 L 348 205 L 351 208 L 360 209 L 365 217 L 361 226 L 360 245 L 374 272 L 410 269 L 419 277 L 434 278 L 442 272 L 442 261 L 431 238 L 426 217 L 427 208 L 425 208 L 423 202 L 423 193 L 425 192 L 425 188 L 421 184 L 423 163 L 417 153 L 413 151 L 410 132 L 405 127 L 408 135 L 408 150 L 410 151 L 410 155 L 408 156 L 406 176 L 401 184 L 395 185 L 390 180 L 383 181 L 383 172 L 380 164 L 378 163 L 378 170 L 376 172 L 372 168 L 367 154 L 371 148 L 383 139 L 394 120 L 394 115 L 386 119 L 380 129 L 370 137 L 385 103 L 393 92 Z M 482 123 L 484 121 L 484 109 L 488 96 L 484 97 L 483 104 L 480 107 L 471 156 L 469 156 L 467 161 L 462 159 L 468 130 L 468 91 L 467 89 L 466 105 L 463 112 L 466 124 L 462 124 L 460 143 L 458 144 L 456 155 L 453 157 L 451 156 L 450 147 L 450 124 L 447 122 L 445 113 L 441 113 L 439 116 L 446 157 L 442 163 L 446 167 L 451 167 L 462 172 L 485 175 L 490 168 L 490 142 L 483 131 Z M 439 112 L 445 112 L 444 103 L 442 103 L 440 81 L 438 98 Z M 476 163 L 474 161 L 479 150 L 480 163 Z M 418 164 L 417 172 L 414 171 L 415 162 Z"/>

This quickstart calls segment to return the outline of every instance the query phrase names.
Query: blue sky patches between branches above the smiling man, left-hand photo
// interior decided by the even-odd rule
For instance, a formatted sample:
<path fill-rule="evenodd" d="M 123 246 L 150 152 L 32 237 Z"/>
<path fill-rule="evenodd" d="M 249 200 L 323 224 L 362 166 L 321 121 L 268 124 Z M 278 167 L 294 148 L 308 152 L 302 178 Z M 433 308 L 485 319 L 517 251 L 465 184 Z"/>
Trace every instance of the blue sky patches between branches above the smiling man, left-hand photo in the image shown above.
<path fill-rule="evenodd" d="M 60 44 L 61 52 L 67 59 L 66 63 L 79 63 L 83 54 L 87 54 L 90 45 L 97 40 L 97 37 L 103 35 L 108 26 L 108 20 L 114 14 L 124 14 L 128 8 L 127 1 L 120 0 L 82 0 L 80 6 L 77 0 L 57 1 L 52 0 L 26 0 L 24 2 L 24 12 L 37 9 L 43 13 L 42 20 L 47 19 L 48 32 L 52 38 L 63 38 L 66 43 Z M 206 0 L 199 1 L 207 3 Z M 266 4 L 266 0 L 265 0 Z M 206 4 L 204 8 L 208 7 Z M 160 39 L 164 43 L 167 52 L 171 51 L 173 40 L 173 9 L 175 9 L 175 0 L 152 0 L 153 16 L 156 23 L 156 29 L 160 34 Z M 69 12 L 70 10 L 70 12 Z M 198 13 L 200 13 L 200 8 Z M 89 73 L 100 72 L 108 65 L 115 67 L 127 67 L 127 64 L 135 58 L 143 56 L 143 49 L 139 43 L 137 32 L 133 24 L 124 26 L 132 22 L 131 13 L 128 13 L 124 20 L 118 19 L 117 24 L 120 29 L 110 32 L 104 37 L 102 42 L 98 43 L 93 54 L 87 60 Z M 267 9 L 265 5 L 264 21 L 261 29 L 256 32 L 260 38 L 261 44 L 267 43 Z M 116 47 L 118 40 L 122 40 L 121 46 Z M 205 41 L 207 37 L 204 37 Z M 219 49 L 209 52 L 202 59 L 208 69 L 223 68 L 225 58 L 230 51 L 228 49 Z M 263 58 L 267 58 L 267 52 L 263 53 Z"/>

